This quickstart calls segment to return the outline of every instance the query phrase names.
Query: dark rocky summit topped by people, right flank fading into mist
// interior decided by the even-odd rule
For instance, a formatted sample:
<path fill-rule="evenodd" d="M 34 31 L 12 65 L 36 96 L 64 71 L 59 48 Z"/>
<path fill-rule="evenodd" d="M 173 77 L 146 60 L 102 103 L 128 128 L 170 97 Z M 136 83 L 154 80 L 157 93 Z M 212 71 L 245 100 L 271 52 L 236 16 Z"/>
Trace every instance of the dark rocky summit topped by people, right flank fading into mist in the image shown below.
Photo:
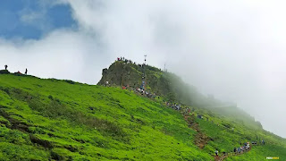
<path fill-rule="evenodd" d="M 142 77 L 145 77 L 145 89 L 149 93 L 164 96 L 168 101 L 179 101 L 189 106 L 223 106 L 223 102 L 200 94 L 195 87 L 172 72 L 147 64 L 133 64 L 130 60 L 115 61 L 108 69 L 103 69 L 97 85 L 108 82 L 109 86 L 139 89 L 142 87 Z"/>

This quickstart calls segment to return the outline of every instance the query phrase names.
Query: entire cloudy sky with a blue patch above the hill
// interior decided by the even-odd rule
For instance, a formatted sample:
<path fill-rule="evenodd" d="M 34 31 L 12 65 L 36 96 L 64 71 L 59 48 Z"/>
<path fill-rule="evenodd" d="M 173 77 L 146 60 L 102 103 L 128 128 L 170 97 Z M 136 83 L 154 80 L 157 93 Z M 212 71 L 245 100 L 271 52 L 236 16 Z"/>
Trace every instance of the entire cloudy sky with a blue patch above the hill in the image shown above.
<path fill-rule="evenodd" d="M 286 10 L 278 0 L 2 0 L 0 65 L 96 84 L 125 56 L 237 102 L 286 138 Z"/>

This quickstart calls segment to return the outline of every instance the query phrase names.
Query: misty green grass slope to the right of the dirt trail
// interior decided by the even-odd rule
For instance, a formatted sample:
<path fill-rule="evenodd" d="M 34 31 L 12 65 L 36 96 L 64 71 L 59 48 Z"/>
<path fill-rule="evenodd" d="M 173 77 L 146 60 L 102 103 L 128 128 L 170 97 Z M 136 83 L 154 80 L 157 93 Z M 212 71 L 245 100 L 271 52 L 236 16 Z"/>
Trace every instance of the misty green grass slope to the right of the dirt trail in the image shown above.
<path fill-rule="evenodd" d="M 266 157 L 281 157 L 286 160 L 286 140 L 261 128 L 260 124 L 243 122 L 239 117 L 214 114 L 210 109 L 197 108 L 195 114 L 205 119 L 196 118 L 201 131 L 210 138 L 203 151 L 211 153 L 214 149 L 220 152 L 232 152 L 233 148 L 241 147 L 240 143 L 265 140 L 265 145 L 255 146 L 245 155 L 230 157 L 229 160 L 265 160 Z M 244 115 L 242 115 L 243 117 Z M 206 119 L 207 118 L 207 119 Z M 244 118 L 244 117 L 243 117 Z M 255 122 L 254 122 L 255 123 Z M 249 159 L 251 158 L 252 159 Z"/>

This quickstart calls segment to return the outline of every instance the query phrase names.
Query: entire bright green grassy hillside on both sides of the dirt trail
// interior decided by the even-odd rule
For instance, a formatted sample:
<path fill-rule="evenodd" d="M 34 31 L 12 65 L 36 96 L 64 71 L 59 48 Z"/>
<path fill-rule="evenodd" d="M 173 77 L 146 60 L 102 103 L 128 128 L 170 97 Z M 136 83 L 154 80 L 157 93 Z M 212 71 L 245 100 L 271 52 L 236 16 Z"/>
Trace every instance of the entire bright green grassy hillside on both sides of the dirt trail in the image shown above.
<path fill-rule="evenodd" d="M 228 159 L 286 158 L 286 141 L 259 125 L 197 107 L 191 107 L 194 114 L 204 119 L 190 116 L 186 122 L 163 99 L 71 80 L 0 74 L 0 160 L 205 161 L 214 159 L 215 148 L 228 152 L 240 142 L 261 139 L 266 146 Z"/>

